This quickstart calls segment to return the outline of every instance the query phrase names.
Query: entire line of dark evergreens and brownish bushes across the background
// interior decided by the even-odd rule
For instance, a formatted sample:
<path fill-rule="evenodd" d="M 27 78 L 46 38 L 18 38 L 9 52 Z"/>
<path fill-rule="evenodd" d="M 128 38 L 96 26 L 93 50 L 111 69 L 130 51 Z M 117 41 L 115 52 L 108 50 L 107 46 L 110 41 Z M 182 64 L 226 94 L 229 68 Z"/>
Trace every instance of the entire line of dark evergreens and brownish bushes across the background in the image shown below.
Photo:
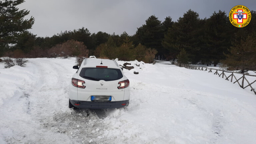
<path fill-rule="evenodd" d="M 0 1 L 0 56 L 32 58 L 95 55 L 145 62 L 151 62 L 159 56 L 167 60 L 178 57 L 183 63 L 213 63 L 216 66 L 222 61 L 232 69 L 256 69 L 255 11 L 251 11 L 251 21 L 243 28 L 234 27 L 222 11 L 214 12 L 208 19 L 200 19 L 197 12 L 188 10 L 177 22 L 172 21 L 170 16 L 161 22 L 152 15 L 132 36 L 126 32 L 120 36 L 101 31 L 90 33 L 82 27 L 52 37 L 37 37 L 27 31 L 32 27 L 34 18 L 23 20 L 29 11 L 19 11 L 15 7 L 22 2 L 24 0 Z M 2 9 L 4 7 L 6 9 Z M 15 22 L 13 19 L 19 20 Z"/>

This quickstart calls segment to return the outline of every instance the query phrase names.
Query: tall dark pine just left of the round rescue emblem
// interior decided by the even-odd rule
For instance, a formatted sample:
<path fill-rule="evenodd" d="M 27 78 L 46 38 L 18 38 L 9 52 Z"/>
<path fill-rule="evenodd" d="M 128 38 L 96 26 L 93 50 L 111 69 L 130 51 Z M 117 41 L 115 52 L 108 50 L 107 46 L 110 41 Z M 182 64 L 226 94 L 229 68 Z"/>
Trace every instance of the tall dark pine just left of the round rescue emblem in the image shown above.
<path fill-rule="evenodd" d="M 203 50 L 206 53 L 205 57 L 214 62 L 214 66 L 224 59 L 223 52 L 227 53 L 231 46 L 232 25 L 230 24 L 225 12 L 214 12 L 213 15 L 207 19 L 205 24 L 206 47 Z"/>

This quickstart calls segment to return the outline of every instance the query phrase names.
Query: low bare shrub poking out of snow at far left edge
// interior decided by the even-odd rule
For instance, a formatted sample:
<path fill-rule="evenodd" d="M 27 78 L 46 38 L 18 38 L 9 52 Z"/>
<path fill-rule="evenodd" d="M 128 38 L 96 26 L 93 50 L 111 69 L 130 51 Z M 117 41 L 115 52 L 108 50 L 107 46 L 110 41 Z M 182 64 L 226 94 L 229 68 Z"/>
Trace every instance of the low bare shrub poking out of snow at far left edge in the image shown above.
<path fill-rule="evenodd" d="M 9 58 L 5 57 L 3 58 L 4 61 L 4 68 L 10 68 L 12 66 L 18 65 L 21 67 L 25 67 L 28 60 L 25 58 Z"/>

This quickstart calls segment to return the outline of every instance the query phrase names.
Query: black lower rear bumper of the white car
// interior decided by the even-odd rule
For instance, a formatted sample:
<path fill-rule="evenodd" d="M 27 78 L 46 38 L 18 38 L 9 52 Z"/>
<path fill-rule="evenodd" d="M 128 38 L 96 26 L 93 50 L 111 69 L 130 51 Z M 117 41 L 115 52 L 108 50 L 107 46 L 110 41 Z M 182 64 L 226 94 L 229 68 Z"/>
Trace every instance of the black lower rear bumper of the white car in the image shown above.
<path fill-rule="evenodd" d="M 89 109 L 121 108 L 121 107 L 125 107 L 129 103 L 129 100 L 97 102 L 97 101 L 76 101 L 76 100 L 69 99 L 69 101 L 73 106 L 77 108 L 89 108 Z"/>

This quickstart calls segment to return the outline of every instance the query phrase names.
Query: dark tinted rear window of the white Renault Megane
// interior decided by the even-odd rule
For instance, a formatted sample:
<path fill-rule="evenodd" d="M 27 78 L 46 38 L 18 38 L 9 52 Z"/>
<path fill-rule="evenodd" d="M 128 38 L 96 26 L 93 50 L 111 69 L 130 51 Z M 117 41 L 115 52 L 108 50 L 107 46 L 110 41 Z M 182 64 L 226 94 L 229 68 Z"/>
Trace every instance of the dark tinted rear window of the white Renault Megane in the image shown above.
<path fill-rule="evenodd" d="M 114 68 L 82 68 L 79 75 L 94 81 L 114 81 L 123 77 L 121 70 Z"/>

